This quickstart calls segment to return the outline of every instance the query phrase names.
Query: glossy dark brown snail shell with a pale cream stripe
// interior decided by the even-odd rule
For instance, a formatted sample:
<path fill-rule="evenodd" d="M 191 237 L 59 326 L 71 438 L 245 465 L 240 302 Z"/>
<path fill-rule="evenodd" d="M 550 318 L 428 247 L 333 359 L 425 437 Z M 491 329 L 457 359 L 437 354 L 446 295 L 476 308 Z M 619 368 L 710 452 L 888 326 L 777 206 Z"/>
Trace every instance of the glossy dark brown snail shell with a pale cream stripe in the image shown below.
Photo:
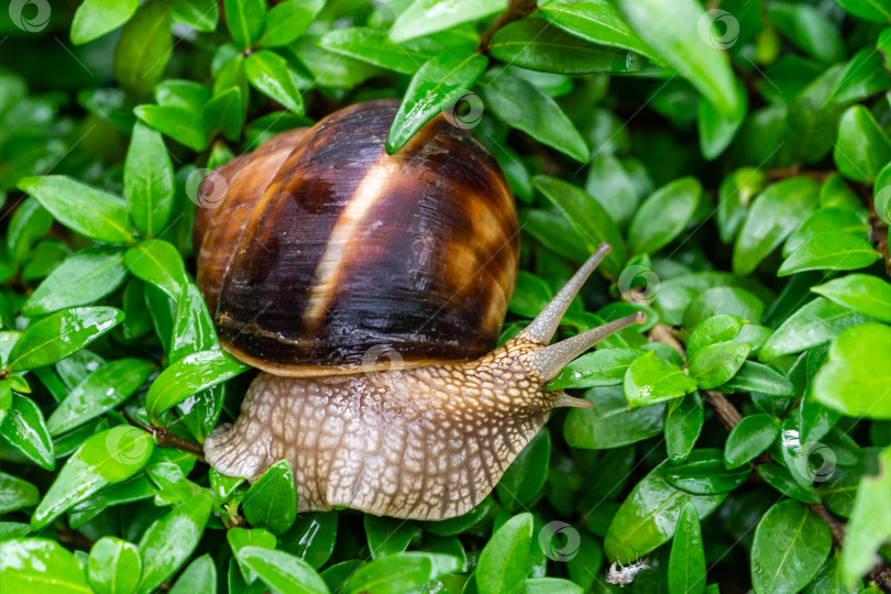
<path fill-rule="evenodd" d="M 518 261 L 510 190 L 472 134 L 442 117 L 387 155 L 397 107 L 353 106 L 286 156 L 240 164 L 199 256 L 201 289 L 235 356 L 314 375 L 494 346 Z"/>

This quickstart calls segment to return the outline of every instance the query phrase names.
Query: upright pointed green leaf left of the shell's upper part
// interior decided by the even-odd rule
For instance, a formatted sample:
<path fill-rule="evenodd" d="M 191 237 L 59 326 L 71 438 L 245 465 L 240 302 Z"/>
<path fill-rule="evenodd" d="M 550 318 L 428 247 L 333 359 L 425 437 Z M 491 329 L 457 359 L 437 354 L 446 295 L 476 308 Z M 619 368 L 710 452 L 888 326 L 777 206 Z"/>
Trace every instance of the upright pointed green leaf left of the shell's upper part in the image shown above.
<path fill-rule="evenodd" d="M 161 134 L 136 122 L 124 162 L 127 211 L 146 238 L 161 234 L 170 218 L 173 164 Z"/>

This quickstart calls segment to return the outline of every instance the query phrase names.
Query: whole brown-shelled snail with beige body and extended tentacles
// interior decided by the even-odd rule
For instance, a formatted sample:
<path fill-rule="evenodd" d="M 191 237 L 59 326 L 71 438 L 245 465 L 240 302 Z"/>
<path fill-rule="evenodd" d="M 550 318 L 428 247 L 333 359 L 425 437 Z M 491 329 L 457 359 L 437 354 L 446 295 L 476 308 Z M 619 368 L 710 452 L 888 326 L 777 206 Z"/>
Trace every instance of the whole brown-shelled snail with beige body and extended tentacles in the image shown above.
<path fill-rule="evenodd" d="M 218 170 L 226 196 L 196 217 L 198 285 L 220 342 L 261 370 L 206 459 L 250 481 L 287 459 L 298 512 L 468 513 L 553 408 L 591 406 L 547 382 L 644 321 L 549 345 L 604 244 L 494 348 L 519 260 L 510 189 L 441 114 L 387 155 L 397 108 L 360 103 L 274 136 Z"/>

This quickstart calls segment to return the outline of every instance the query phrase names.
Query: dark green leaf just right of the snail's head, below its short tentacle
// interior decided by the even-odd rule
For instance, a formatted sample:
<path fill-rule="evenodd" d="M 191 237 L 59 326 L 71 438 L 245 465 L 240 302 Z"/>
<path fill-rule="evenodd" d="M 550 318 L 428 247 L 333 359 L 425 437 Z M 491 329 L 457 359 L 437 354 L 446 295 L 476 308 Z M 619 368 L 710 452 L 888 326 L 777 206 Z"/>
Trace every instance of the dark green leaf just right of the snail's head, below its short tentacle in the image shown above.
<path fill-rule="evenodd" d="M 563 437 L 573 448 L 607 450 L 657 436 L 662 430 L 663 404 L 629 409 L 618 386 L 593 388 L 585 397 L 594 403 L 594 408 L 570 410 L 563 427 Z"/>

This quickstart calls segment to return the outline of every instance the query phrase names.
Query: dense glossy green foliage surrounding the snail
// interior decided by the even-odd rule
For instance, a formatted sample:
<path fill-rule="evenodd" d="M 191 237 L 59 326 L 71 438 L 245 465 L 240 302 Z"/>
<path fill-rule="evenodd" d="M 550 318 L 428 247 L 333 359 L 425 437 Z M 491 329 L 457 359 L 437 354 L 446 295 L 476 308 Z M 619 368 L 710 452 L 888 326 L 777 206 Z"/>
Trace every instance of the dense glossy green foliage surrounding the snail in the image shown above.
<path fill-rule="evenodd" d="M 891 1 L 3 12 L 4 592 L 891 587 Z M 593 409 L 441 522 L 296 514 L 287 462 L 199 455 L 251 374 L 195 285 L 197 184 L 372 98 L 402 100 L 388 151 L 444 113 L 501 163 L 505 337 L 602 241 L 561 332 L 649 316 L 553 380 Z"/>

